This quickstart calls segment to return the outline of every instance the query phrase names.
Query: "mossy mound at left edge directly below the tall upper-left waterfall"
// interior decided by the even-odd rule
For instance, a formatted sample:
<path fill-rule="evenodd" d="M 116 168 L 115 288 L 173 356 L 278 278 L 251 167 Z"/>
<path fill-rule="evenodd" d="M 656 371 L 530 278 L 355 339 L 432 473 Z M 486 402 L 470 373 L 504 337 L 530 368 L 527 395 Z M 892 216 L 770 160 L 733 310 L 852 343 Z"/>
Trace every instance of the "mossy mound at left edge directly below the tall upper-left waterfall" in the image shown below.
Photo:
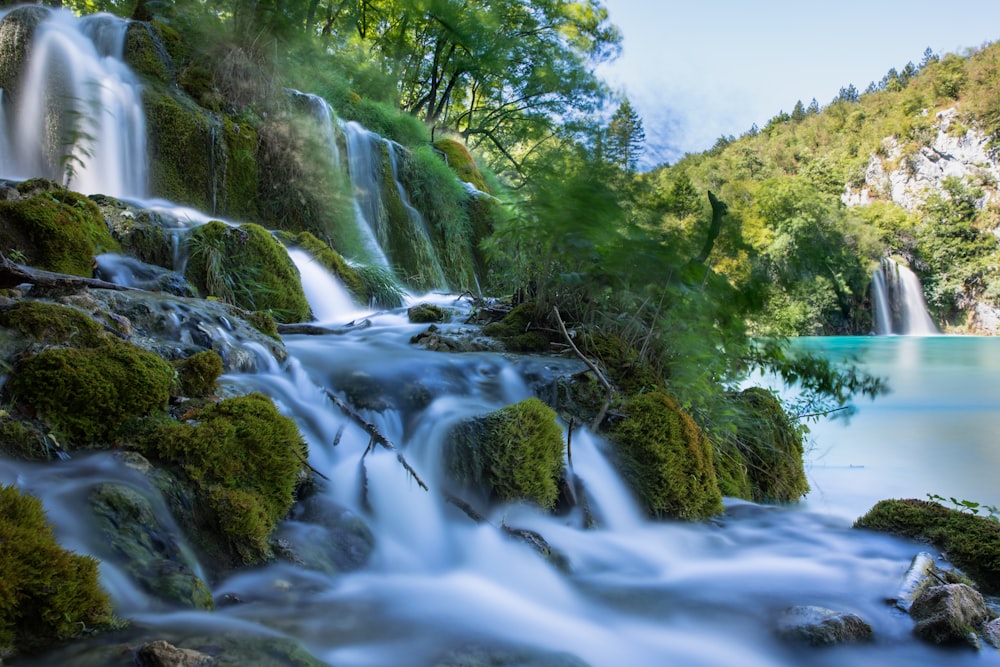
<path fill-rule="evenodd" d="M 0 250 L 17 250 L 40 269 L 89 278 L 95 255 L 118 244 L 94 202 L 59 189 L 0 201 Z"/>

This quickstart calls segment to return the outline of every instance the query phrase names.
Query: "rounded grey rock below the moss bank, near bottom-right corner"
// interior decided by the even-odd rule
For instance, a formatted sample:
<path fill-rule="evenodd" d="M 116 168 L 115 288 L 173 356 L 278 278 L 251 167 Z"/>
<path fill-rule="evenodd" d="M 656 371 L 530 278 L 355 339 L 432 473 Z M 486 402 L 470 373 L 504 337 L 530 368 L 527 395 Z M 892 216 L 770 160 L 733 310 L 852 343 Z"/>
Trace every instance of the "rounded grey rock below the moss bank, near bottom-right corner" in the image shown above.
<path fill-rule="evenodd" d="M 975 629 L 989 618 L 986 601 L 965 584 L 932 586 L 910 607 L 914 632 L 934 644 L 968 643 L 978 647 Z"/>

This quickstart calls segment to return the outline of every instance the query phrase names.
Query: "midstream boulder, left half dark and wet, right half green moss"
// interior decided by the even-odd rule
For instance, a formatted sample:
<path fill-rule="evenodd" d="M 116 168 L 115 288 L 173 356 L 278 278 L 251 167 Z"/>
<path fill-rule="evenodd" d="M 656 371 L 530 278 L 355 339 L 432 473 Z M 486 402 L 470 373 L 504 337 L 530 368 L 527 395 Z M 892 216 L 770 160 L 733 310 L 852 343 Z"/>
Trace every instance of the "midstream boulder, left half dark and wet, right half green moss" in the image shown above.
<path fill-rule="evenodd" d="M 556 505 L 565 443 L 555 412 L 537 398 L 459 423 L 445 452 L 449 476 L 490 500 Z"/>

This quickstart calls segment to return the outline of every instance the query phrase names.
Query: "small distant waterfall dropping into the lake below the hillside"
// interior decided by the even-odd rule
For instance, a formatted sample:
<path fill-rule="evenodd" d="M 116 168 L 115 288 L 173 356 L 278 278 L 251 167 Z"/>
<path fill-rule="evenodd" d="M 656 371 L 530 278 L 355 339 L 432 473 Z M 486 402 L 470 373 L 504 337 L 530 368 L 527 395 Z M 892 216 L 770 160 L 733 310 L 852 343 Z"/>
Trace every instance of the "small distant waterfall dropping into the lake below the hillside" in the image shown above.
<path fill-rule="evenodd" d="M 875 333 L 932 336 L 939 333 L 924 301 L 920 279 L 909 267 L 883 258 L 872 276 Z"/>

